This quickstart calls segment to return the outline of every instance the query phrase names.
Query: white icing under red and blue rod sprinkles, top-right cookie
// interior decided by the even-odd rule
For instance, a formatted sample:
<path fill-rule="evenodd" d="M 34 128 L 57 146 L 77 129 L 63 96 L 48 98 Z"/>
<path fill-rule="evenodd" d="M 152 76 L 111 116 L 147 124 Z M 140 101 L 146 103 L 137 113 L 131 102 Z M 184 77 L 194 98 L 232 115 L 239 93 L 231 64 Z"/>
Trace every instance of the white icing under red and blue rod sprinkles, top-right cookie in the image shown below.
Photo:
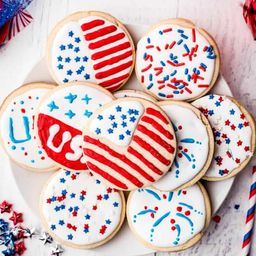
<path fill-rule="evenodd" d="M 163 31 L 165 29 L 172 28 L 172 31 L 165 32 L 159 34 L 159 31 Z M 183 30 L 183 33 L 177 32 L 177 30 Z M 185 36 L 188 37 L 188 39 L 185 39 L 181 37 L 181 34 L 185 34 Z M 155 29 L 153 29 L 151 32 L 149 32 L 145 37 L 143 37 L 137 45 L 137 59 L 136 59 L 136 67 L 139 75 L 139 79 L 141 80 L 141 76 L 144 76 L 144 82 L 143 85 L 147 88 L 150 86 L 150 84 L 153 84 L 149 90 L 155 94 L 158 98 L 161 100 L 168 100 L 168 99 L 175 99 L 175 100 L 186 100 L 191 99 L 194 97 L 197 97 L 203 91 L 207 88 L 199 88 L 198 85 L 210 85 L 214 73 L 214 67 L 215 67 L 215 59 L 207 58 L 209 52 L 203 51 L 203 48 L 205 46 L 210 46 L 209 42 L 206 38 L 203 37 L 197 30 L 195 30 L 196 35 L 196 42 L 193 42 L 192 40 L 192 29 L 181 27 L 179 25 L 173 25 L 173 24 L 167 24 L 167 25 L 161 25 Z M 150 43 L 148 43 L 147 39 L 150 39 Z M 183 40 L 181 44 L 177 44 L 180 40 Z M 175 41 L 175 45 L 169 49 L 169 46 L 172 44 L 172 42 Z M 166 44 L 168 44 L 168 48 L 165 49 Z M 186 54 L 187 51 L 184 48 L 184 44 L 187 45 L 190 53 L 191 48 L 195 47 L 196 44 L 198 45 L 198 49 L 196 54 L 196 57 L 192 56 L 192 60 L 189 61 L 189 56 L 182 56 L 183 54 Z M 153 48 L 146 48 L 148 45 L 154 45 Z M 159 47 L 161 51 L 158 51 L 156 47 Z M 153 61 L 150 60 L 150 58 L 144 59 L 144 54 L 146 55 L 152 55 Z M 171 59 L 170 54 L 173 54 L 171 57 L 176 59 Z M 212 55 L 214 56 L 216 53 L 212 51 Z M 170 65 L 168 61 L 174 62 L 178 61 L 179 63 L 185 63 L 183 66 L 174 67 Z M 164 65 L 160 63 L 160 61 L 163 61 Z M 199 69 L 199 66 L 202 66 L 201 63 L 203 63 L 205 66 L 207 66 L 206 71 L 204 72 L 202 69 Z M 143 69 L 145 69 L 148 65 L 152 64 L 152 67 L 149 68 L 147 71 L 142 72 Z M 157 72 L 159 70 L 154 70 L 154 68 L 162 68 L 162 73 Z M 200 74 L 199 76 L 203 77 L 204 80 L 197 79 L 197 82 L 194 83 L 194 80 L 191 79 L 190 82 L 188 81 L 188 74 L 185 74 L 185 69 L 188 69 L 188 74 L 191 76 L 193 74 L 193 69 L 196 68 L 196 70 L 199 70 Z M 173 74 L 173 72 L 176 73 Z M 150 79 L 150 74 L 152 74 L 152 79 Z M 173 75 L 171 75 L 173 74 Z M 164 83 L 158 83 L 157 81 L 163 81 L 164 77 L 168 76 L 168 79 L 165 80 Z M 172 79 L 176 80 L 183 80 L 184 82 L 188 83 L 184 88 L 178 88 L 182 86 L 182 82 L 179 85 L 175 85 L 177 89 L 171 88 L 167 86 L 167 84 L 171 84 L 174 86 L 175 82 L 171 82 Z M 159 86 L 165 85 L 164 88 L 158 89 Z M 185 90 L 185 88 L 189 89 L 192 93 L 188 93 L 188 91 Z M 183 93 L 181 91 L 183 90 Z M 179 94 L 173 93 L 173 91 L 178 91 Z M 161 96 L 160 94 L 164 95 L 173 95 L 172 98 L 167 98 L 166 96 Z"/>

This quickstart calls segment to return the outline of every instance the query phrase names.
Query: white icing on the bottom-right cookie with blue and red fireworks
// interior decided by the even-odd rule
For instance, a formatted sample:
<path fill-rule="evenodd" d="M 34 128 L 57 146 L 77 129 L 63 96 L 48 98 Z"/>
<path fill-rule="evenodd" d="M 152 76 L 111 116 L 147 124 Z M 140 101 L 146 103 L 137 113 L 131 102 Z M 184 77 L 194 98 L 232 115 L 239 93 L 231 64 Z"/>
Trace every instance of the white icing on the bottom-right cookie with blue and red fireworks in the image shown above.
<path fill-rule="evenodd" d="M 148 193 L 147 190 L 156 193 L 160 200 Z M 169 200 L 170 194 L 172 194 L 171 200 Z M 164 192 L 152 188 L 144 188 L 134 191 L 130 197 L 128 205 L 130 223 L 141 239 L 153 246 L 173 247 L 185 244 L 204 228 L 206 218 L 205 202 L 201 189 L 197 184 L 177 192 Z M 179 203 L 185 203 L 192 209 Z M 145 209 L 145 207 L 147 208 Z M 181 211 L 178 211 L 177 207 L 181 207 Z M 152 210 L 152 212 L 143 214 L 142 211 L 145 210 Z M 153 217 L 151 216 L 152 213 L 154 214 Z M 158 225 L 154 225 L 165 214 L 168 216 L 163 218 Z M 187 219 L 176 214 L 183 214 L 188 217 L 193 226 L 190 226 Z M 175 223 L 171 223 L 171 220 L 174 220 Z M 179 236 L 177 236 L 178 228 L 175 225 L 180 227 Z M 172 227 L 175 227 L 175 229 L 173 228 L 174 230 L 172 230 Z"/>

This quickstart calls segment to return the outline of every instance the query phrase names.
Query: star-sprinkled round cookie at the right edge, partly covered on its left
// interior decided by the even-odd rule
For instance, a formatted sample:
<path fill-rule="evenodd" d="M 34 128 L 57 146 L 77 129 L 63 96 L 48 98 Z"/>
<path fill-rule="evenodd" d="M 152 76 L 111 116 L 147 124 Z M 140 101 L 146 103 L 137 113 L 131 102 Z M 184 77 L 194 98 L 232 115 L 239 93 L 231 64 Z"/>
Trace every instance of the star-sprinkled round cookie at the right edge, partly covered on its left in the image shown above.
<path fill-rule="evenodd" d="M 203 179 L 218 181 L 233 177 L 255 152 L 255 121 L 236 99 L 207 95 L 193 105 L 208 118 L 215 141 L 212 163 Z"/>

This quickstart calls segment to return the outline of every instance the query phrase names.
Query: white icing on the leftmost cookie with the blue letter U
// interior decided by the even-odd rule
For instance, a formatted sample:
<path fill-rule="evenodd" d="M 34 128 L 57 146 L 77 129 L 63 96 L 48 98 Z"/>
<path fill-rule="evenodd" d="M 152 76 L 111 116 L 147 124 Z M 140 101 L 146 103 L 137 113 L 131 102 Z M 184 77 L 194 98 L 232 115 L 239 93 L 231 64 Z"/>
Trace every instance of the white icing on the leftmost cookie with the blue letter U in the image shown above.
<path fill-rule="evenodd" d="M 34 138 L 36 134 L 33 129 L 35 110 L 37 109 L 40 100 L 49 90 L 50 89 L 47 88 L 35 88 L 15 97 L 6 107 L 0 120 L 1 136 L 9 156 L 16 162 L 35 169 L 46 169 L 54 166 L 54 162 L 39 148 L 39 145 Z M 23 102 L 23 104 L 21 104 L 21 102 Z M 22 109 L 25 110 L 25 113 L 22 112 Z M 12 142 L 10 138 L 10 118 L 12 118 L 13 121 L 14 139 L 27 139 L 24 117 L 28 118 L 31 139 L 20 143 Z"/>

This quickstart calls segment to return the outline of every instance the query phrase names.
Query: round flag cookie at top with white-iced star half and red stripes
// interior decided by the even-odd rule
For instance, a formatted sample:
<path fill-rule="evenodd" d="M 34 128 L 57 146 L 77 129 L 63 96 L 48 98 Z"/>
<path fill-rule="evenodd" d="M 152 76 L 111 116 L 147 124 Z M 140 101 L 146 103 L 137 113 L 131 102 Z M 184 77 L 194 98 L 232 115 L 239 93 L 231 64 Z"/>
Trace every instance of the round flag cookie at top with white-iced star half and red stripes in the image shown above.
<path fill-rule="evenodd" d="M 135 59 L 127 29 L 110 14 L 73 13 L 52 30 L 47 66 L 58 83 L 86 81 L 115 91 L 129 78 Z"/>

